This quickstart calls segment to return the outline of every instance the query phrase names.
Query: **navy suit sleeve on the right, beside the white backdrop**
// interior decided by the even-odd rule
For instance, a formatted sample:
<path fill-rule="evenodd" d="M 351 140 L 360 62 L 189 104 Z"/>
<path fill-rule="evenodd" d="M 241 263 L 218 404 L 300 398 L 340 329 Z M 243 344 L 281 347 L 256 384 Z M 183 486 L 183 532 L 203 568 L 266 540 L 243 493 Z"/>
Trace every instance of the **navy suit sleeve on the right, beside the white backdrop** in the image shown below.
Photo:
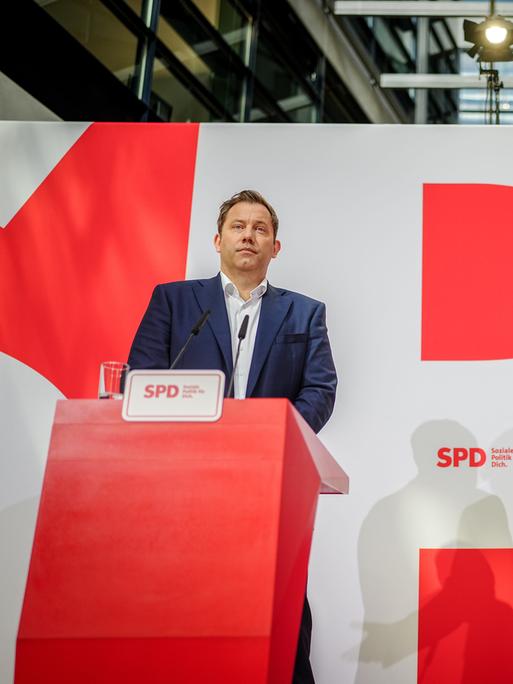
<path fill-rule="evenodd" d="M 337 372 L 326 328 L 326 307 L 319 303 L 310 321 L 308 347 L 294 406 L 315 431 L 327 423 L 335 404 Z"/>

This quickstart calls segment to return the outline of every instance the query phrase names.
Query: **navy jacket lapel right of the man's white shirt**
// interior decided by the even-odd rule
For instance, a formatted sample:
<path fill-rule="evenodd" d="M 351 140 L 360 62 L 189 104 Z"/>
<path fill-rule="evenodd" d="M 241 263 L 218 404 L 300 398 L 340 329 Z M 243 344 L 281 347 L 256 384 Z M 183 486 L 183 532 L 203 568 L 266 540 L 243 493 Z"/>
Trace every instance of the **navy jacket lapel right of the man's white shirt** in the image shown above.
<path fill-rule="evenodd" d="M 267 286 L 267 292 L 262 297 L 262 308 L 255 340 L 255 349 L 249 370 L 248 387 L 246 396 L 250 397 L 258 380 L 258 376 L 264 366 L 265 360 L 274 342 L 274 338 L 280 329 L 283 319 L 290 308 L 290 298 L 283 297 L 285 292 L 277 290 L 271 285 Z"/>

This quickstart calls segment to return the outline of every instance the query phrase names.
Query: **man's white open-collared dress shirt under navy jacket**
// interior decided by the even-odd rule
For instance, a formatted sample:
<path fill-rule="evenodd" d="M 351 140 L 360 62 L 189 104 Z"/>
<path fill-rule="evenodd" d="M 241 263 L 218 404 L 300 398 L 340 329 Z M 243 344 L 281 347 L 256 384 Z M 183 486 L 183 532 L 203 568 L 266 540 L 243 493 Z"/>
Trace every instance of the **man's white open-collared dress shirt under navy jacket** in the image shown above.
<path fill-rule="evenodd" d="M 253 358 L 253 350 L 255 349 L 255 339 L 258 328 L 258 320 L 260 318 L 262 297 L 267 291 L 267 279 L 264 278 L 260 285 L 257 285 L 254 290 L 251 290 L 247 302 L 242 299 L 235 285 L 222 271 L 221 283 L 224 290 L 224 301 L 226 303 L 228 321 L 230 322 L 232 358 L 234 362 L 235 355 L 237 354 L 237 346 L 239 344 L 238 335 L 240 326 L 244 320 L 244 316 L 249 316 L 248 330 L 246 337 L 242 340 L 239 361 L 237 363 L 235 377 L 233 379 L 233 396 L 235 399 L 244 399 L 246 397 L 246 389 L 248 386 L 251 359 Z"/>

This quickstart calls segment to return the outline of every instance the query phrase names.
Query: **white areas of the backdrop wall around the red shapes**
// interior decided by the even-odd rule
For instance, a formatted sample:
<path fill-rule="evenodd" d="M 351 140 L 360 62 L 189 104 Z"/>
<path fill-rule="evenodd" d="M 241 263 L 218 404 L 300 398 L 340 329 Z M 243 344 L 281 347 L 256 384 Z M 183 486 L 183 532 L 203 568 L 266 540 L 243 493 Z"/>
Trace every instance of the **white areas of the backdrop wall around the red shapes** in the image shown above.
<path fill-rule="evenodd" d="M 78 132 L 56 126 L 72 144 Z M 0 126 L 4 159 L 7 149 L 16 157 L 13 135 Z M 280 217 L 271 283 L 327 304 L 340 385 L 320 436 L 351 492 L 321 497 L 318 507 L 309 573 L 318 684 L 416 682 L 419 548 L 513 546 L 513 470 L 489 459 L 479 469 L 436 466 L 441 446 L 513 446 L 511 361 L 420 355 L 423 184 L 513 185 L 510 138 L 507 128 L 479 127 L 200 127 L 187 277 L 217 272 L 218 206 L 255 188 Z M 0 188 L 15 183 L 8 168 Z M 5 354 L 0 380 L 0 681 L 8 684 L 59 390 Z"/>

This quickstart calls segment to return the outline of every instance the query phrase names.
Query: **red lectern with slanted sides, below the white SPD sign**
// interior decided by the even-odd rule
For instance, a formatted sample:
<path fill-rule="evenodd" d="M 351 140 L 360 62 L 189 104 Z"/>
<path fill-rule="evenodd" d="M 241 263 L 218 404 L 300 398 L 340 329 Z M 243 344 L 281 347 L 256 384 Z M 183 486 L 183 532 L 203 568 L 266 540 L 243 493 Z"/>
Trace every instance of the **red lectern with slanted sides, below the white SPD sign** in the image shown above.
<path fill-rule="evenodd" d="M 317 495 L 348 480 L 285 399 L 217 423 L 59 401 L 16 684 L 284 684 Z"/>

